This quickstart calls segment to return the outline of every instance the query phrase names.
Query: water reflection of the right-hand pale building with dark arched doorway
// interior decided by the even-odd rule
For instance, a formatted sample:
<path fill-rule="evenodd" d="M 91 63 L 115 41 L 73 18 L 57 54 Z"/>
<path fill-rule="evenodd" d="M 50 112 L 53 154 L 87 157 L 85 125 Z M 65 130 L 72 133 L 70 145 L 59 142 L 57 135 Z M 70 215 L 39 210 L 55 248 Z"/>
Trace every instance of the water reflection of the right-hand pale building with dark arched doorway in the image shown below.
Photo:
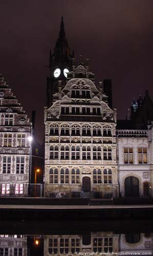
<path fill-rule="evenodd" d="M 153 254 L 153 243 L 152 233 L 127 233 L 120 234 L 119 239 L 119 251 L 123 255 L 127 252 L 137 252 L 139 255 L 152 255 Z"/>

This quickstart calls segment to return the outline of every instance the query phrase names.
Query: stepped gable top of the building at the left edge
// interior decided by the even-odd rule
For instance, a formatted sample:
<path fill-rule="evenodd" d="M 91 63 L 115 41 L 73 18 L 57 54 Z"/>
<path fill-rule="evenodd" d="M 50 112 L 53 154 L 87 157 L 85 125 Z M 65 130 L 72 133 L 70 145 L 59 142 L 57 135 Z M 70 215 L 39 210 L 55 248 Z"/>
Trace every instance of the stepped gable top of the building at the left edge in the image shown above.
<path fill-rule="evenodd" d="M 2 74 L 0 74 L 0 113 L 15 114 L 14 125 L 31 125 L 29 118 L 13 95 Z"/>

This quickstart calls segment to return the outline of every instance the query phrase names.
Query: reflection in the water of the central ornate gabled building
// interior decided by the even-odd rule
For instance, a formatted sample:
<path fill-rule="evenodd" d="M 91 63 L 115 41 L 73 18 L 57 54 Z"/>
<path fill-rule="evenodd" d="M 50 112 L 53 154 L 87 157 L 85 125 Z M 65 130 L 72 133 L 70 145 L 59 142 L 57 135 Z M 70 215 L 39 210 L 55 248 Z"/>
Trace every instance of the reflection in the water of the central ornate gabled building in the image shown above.
<path fill-rule="evenodd" d="M 119 235 L 94 232 L 84 235 L 54 235 L 44 237 L 44 256 L 76 255 L 77 252 L 117 252 Z"/>

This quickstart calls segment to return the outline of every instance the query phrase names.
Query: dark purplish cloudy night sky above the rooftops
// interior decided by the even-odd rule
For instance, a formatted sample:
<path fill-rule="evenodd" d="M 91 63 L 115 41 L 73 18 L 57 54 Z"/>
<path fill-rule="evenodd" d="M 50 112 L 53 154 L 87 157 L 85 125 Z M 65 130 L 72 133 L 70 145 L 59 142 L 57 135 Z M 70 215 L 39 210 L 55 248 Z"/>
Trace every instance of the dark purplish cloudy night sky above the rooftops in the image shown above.
<path fill-rule="evenodd" d="M 28 116 L 36 110 L 36 132 L 43 138 L 43 107 L 49 52 L 61 15 L 75 57 L 90 58 L 96 82 L 112 79 L 118 118 L 132 98 L 153 97 L 152 0 L 1 0 L 0 73 Z"/>

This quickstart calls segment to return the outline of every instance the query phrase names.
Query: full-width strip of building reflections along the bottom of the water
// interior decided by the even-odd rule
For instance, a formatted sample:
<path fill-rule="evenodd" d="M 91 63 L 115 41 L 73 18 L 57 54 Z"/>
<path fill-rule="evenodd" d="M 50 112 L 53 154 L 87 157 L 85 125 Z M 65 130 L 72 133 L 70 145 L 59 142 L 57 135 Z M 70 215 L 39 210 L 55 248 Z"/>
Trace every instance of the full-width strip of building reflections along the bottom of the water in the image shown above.
<path fill-rule="evenodd" d="M 1 234 L 0 256 L 152 255 L 153 233 Z"/>

